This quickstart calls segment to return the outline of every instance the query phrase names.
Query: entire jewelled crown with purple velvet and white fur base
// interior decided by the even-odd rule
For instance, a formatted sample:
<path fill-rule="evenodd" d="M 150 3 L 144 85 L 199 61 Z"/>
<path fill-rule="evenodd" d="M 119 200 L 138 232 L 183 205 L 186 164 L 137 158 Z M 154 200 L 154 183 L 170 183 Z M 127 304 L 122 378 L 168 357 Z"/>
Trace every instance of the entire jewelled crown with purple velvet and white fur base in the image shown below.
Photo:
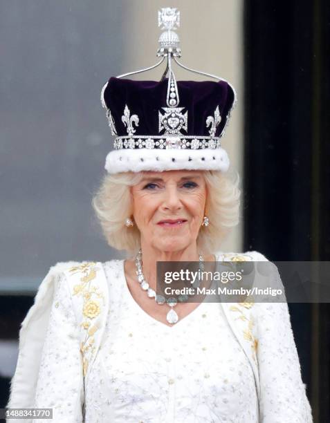
<path fill-rule="evenodd" d="M 229 159 L 221 137 L 235 106 L 235 89 L 224 79 L 194 71 L 178 62 L 181 57 L 180 13 L 176 8 L 158 12 L 157 55 L 167 58 L 161 81 L 136 81 L 128 75 L 111 77 L 104 84 L 101 102 L 107 111 L 113 151 L 106 160 L 109 173 L 119 171 L 210 169 L 226 171 Z M 195 73 L 215 77 L 217 82 L 176 81 L 172 62 Z M 168 77 L 167 77 L 168 73 Z"/>

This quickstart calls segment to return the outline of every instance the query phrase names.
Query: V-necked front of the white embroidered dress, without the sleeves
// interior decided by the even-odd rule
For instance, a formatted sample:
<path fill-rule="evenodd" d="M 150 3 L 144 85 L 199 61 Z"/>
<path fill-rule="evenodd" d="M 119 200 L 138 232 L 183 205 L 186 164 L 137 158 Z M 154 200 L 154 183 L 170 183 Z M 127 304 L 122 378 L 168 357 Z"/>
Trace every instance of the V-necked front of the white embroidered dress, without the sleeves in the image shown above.
<path fill-rule="evenodd" d="M 131 297 L 122 262 L 116 274 L 86 422 L 257 422 L 253 371 L 219 303 L 201 303 L 169 327 Z"/>

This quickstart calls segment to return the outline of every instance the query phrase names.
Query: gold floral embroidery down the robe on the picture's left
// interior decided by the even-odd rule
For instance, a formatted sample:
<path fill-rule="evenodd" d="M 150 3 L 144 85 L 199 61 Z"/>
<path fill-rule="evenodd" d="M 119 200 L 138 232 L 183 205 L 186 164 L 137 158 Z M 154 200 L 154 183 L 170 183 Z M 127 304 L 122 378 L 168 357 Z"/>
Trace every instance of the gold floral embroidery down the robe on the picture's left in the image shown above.
<path fill-rule="evenodd" d="M 82 353 L 83 374 L 86 376 L 89 358 L 95 353 L 95 332 L 99 329 L 97 325 L 92 326 L 92 321 L 101 312 L 100 300 L 104 300 L 104 296 L 99 292 L 98 288 L 91 285 L 91 281 L 96 277 L 96 263 L 86 262 L 81 265 L 71 267 L 69 272 L 72 274 L 81 273 L 80 283 L 73 287 L 73 295 L 82 296 L 82 314 L 84 321 L 81 323 L 85 330 L 84 341 L 80 344 L 80 351 Z"/>

